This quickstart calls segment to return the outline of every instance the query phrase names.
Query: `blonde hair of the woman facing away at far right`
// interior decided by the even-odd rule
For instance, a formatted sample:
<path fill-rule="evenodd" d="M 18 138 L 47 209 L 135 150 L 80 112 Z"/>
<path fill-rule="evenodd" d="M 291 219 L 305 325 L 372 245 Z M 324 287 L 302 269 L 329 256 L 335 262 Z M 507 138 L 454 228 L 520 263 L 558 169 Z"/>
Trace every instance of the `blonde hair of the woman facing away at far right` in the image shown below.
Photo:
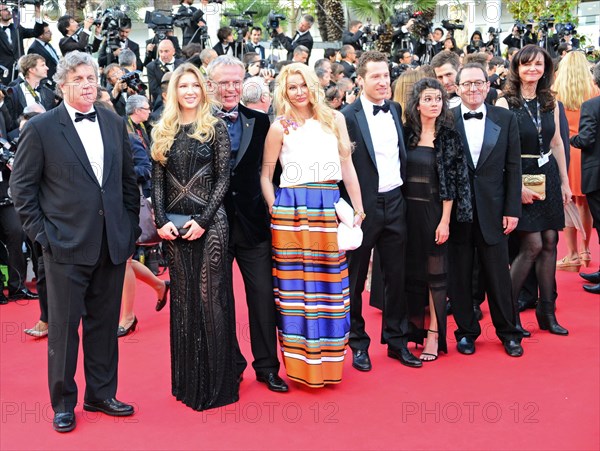
<path fill-rule="evenodd" d="M 552 89 L 567 110 L 579 110 L 596 94 L 590 67 L 583 52 L 569 52 L 560 61 Z"/>

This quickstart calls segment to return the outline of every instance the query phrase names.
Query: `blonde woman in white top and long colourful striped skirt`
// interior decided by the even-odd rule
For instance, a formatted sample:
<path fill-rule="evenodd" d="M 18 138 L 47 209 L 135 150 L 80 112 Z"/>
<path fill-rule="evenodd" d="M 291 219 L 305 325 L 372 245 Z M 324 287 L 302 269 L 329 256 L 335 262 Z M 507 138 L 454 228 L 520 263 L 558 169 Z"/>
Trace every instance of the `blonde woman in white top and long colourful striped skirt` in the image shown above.
<path fill-rule="evenodd" d="M 279 341 L 288 377 L 322 387 L 342 379 L 350 330 L 348 266 L 334 208 L 339 181 L 356 225 L 364 213 L 344 118 L 324 103 L 315 72 L 290 64 L 277 83 L 279 116 L 265 142 L 261 184 L 271 211 Z M 277 160 L 283 172 L 275 193 Z"/>

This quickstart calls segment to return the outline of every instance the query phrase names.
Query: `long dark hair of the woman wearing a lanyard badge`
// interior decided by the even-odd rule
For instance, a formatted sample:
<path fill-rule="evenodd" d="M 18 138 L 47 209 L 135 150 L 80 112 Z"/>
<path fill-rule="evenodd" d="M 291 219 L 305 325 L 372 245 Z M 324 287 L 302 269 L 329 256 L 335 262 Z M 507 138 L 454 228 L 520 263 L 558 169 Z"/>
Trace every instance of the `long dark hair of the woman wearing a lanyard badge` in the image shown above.
<path fill-rule="evenodd" d="M 550 58 L 550 54 L 542 47 L 533 44 L 528 44 L 515 53 L 510 63 L 506 85 L 502 90 L 504 92 L 504 97 L 506 97 L 510 106 L 514 108 L 521 108 L 523 106 L 519 67 L 521 64 L 533 61 L 538 55 L 543 55 L 544 57 L 544 75 L 538 81 L 535 93 L 543 112 L 552 111 L 554 109 L 556 102 L 554 99 L 554 92 L 551 89 L 552 84 L 554 83 L 554 65 L 552 64 L 552 58 Z"/>

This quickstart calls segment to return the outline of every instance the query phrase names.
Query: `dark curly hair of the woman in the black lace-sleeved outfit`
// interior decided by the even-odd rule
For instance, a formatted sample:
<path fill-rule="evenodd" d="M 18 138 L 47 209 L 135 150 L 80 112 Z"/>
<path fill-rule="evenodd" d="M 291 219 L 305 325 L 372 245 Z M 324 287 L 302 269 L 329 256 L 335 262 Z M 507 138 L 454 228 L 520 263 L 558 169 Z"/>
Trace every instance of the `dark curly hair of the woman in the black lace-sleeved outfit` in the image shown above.
<path fill-rule="evenodd" d="M 406 127 L 409 147 L 415 147 L 419 143 L 419 139 L 421 139 L 423 124 L 421 123 L 421 112 L 417 107 L 421 100 L 421 93 L 426 89 L 437 89 L 442 95 L 442 111 L 435 120 L 435 136 L 438 135 L 443 126 L 452 126 L 452 115 L 448 108 L 448 94 L 446 94 L 446 90 L 435 78 L 423 78 L 413 86 L 412 94 L 406 104 Z"/>

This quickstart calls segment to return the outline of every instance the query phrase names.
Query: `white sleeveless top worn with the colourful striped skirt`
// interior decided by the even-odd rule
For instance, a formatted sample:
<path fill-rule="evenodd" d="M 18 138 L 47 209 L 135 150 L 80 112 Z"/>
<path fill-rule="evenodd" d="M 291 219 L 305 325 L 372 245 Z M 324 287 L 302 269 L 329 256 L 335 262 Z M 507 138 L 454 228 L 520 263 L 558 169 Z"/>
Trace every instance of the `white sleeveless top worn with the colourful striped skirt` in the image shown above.
<path fill-rule="evenodd" d="M 278 119 L 281 120 L 281 119 Z M 279 161 L 283 168 L 281 188 L 342 180 L 342 166 L 337 138 L 327 133 L 315 119 L 308 119 L 302 126 L 285 121 L 287 130 L 283 135 L 283 147 Z"/>

